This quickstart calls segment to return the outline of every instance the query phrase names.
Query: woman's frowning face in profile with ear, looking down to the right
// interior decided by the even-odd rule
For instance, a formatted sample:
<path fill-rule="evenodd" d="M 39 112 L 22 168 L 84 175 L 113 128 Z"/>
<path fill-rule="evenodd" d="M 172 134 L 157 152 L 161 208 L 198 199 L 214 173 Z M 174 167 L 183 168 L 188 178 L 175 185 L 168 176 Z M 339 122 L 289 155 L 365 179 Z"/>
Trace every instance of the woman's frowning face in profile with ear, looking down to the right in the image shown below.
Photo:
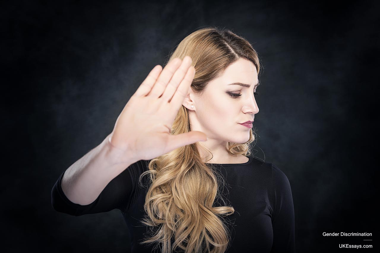
<path fill-rule="evenodd" d="M 253 121 L 259 112 L 253 94 L 257 86 L 255 65 L 246 59 L 237 60 L 226 68 L 222 76 L 209 82 L 202 95 L 191 92 L 192 101 L 184 102 L 192 110 L 189 111 L 191 130 L 205 133 L 209 141 L 247 142 L 250 128 L 240 123 Z"/>

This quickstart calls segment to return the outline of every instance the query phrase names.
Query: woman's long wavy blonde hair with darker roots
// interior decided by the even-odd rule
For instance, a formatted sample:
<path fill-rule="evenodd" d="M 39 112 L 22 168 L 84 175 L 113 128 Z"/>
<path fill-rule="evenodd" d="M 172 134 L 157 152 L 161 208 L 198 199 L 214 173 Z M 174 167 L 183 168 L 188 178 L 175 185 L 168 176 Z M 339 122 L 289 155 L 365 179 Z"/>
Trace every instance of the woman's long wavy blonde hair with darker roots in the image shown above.
<path fill-rule="evenodd" d="M 198 94 L 239 58 L 250 60 L 259 73 L 259 59 L 252 45 L 226 28 L 196 30 L 178 44 L 168 62 L 176 57 L 184 59 L 186 55 L 192 58 L 196 70 L 191 87 Z M 190 131 L 187 110 L 183 105 L 180 107 L 171 134 Z M 248 142 L 227 142 L 226 149 L 233 156 L 249 156 L 249 144 L 254 140 L 251 129 Z M 197 145 L 204 147 L 197 142 L 152 159 L 149 170 L 141 174 L 140 185 L 146 174 L 150 174 L 152 181 L 144 204 L 147 215 L 142 220 L 152 227 L 152 235 L 140 244 L 157 243 L 158 247 L 161 243 L 163 253 L 178 248 L 185 253 L 222 253 L 228 248 L 230 232 L 220 218 L 234 213 L 234 208 L 213 206 L 217 197 L 225 204 L 219 190 L 224 182 L 213 166 L 203 162 Z"/>

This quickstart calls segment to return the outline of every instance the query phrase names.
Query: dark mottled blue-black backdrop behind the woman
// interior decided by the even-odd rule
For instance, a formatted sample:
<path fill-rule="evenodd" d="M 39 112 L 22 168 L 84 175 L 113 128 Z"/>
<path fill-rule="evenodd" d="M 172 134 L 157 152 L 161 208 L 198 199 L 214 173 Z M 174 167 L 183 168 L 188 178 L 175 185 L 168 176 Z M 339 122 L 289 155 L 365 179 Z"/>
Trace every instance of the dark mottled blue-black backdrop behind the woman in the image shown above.
<path fill-rule="evenodd" d="M 59 213 L 51 188 L 112 131 L 149 71 L 185 36 L 213 25 L 245 37 L 260 56 L 255 155 L 290 181 L 297 251 L 378 248 L 379 7 L 365 0 L 3 3 L 2 247 L 129 252 L 119 210 Z M 322 232 L 371 232 L 364 239 L 374 240 Z"/>

